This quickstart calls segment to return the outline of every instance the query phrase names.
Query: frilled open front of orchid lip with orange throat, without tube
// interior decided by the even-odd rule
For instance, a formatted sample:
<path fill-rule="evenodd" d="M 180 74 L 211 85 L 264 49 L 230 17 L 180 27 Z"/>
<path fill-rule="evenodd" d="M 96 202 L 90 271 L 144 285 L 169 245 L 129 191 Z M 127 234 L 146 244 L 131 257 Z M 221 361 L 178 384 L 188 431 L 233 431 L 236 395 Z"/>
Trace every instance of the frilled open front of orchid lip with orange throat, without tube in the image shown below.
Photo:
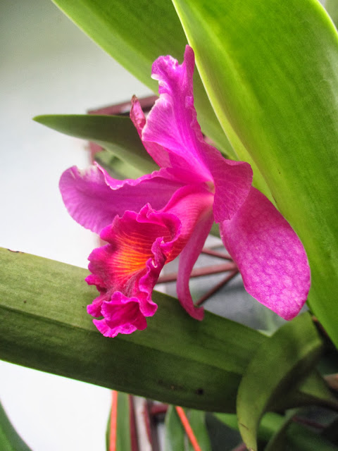
<path fill-rule="evenodd" d="M 149 205 L 138 214 L 126 211 L 122 218 L 115 216 L 111 226 L 101 231 L 108 244 L 89 255 L 92 274 L 86 280 L 96 285 L 100 295 L 87 307 L 88 313 L 104 315 L 104 324 L 114 329 L 126 327 L 130 318 L 137 328 L 144 325 L 142 316 L 156 312 L 151 294 L 163 265 L 172 258 L 180 230 L 176 216 L 154 211 Z M 109 318 L 107 302 L 115 306 L 114 316 L 111 311 Z M 137 310 L 130 302 L 137 302 Z"/>

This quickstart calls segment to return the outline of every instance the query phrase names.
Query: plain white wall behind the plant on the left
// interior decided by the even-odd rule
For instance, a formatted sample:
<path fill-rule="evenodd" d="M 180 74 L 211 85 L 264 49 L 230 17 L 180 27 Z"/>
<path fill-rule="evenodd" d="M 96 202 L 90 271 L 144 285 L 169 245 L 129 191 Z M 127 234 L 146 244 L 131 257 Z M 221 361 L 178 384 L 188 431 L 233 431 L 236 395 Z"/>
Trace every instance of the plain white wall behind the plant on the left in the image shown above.
<path fill-rule="evenodd" d="M 66 168 L 89 163 L 85 143 L 32 117 L 151 93 L 51 1 L 1 1 L 0 33 L 0 246 L 87 267 L 96 237 L 58 192 Z M 0 362 L 0 397 L 33 451 L 105 450 L 109 390 Z"/>

